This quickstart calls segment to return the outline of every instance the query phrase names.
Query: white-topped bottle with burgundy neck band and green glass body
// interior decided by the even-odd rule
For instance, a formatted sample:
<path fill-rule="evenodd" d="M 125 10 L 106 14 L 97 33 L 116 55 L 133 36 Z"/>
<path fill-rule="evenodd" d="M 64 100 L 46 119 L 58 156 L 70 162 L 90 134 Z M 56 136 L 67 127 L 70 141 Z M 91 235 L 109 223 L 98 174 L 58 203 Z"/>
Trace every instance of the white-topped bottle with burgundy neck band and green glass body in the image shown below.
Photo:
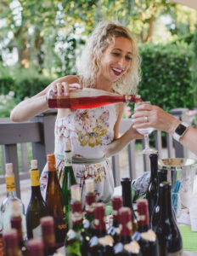
<path fill-rule="evenodd" d="M 65 254 L 82 256 L 82 201 L 79 185 L 71 186 L 72 229 L 65 236 Z"/>

